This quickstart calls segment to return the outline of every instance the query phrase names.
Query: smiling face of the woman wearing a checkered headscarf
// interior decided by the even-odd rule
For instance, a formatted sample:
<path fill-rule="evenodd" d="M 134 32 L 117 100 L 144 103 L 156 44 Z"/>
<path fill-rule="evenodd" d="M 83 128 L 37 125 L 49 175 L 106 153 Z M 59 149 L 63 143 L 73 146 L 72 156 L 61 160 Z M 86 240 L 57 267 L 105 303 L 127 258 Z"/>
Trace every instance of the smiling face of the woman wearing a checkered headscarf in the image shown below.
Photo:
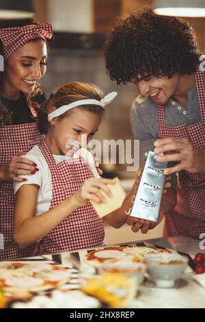
<path fill-rule="evenodd" d="M 46 72 L 47 47 L 44 40 L 27 42 L 5 64 L 3 96 L 18 99 L 20 92 L 30 94 Z"/>

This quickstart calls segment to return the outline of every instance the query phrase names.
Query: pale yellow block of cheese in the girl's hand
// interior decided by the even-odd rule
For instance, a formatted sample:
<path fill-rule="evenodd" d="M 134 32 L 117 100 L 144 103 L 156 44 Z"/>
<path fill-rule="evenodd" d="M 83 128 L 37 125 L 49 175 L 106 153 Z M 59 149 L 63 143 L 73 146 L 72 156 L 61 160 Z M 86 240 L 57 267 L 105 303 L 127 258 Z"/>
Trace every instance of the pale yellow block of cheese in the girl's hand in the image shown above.
<path fill-rule="evenodd" d="M 108 197 L 106 193 L 100 189 L 100 193 L 102 193 L 103 197 L 105 197 L 107 203 L 97 203 L 95 201 L 91 201 L 92 206 L 100 218 L 120 208 L 124 198 L 126 197 L 126 192 L 122 188 L 120 179 L 118 179 L 118 177 L 115 177 L 115 184 L 107 184 L 107 187 L 111 190 L 111 193 L 113 194 L 112 197 Z"/>

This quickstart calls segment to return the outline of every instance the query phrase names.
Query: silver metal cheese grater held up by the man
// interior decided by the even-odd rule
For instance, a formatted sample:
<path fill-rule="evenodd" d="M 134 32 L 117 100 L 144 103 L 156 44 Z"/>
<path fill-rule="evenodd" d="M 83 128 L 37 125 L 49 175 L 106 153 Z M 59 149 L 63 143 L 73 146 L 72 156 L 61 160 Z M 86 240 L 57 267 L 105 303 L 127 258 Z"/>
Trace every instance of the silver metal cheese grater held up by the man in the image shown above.
<path fill-rule="evenodd" d="M 157 156 L 152 151 L 148 152 L 133 208 L 126 214 L 149 221 L 158 220 L 165 182 L 163 171 L 167 168 L 167 162 L 156 162 Z"/>

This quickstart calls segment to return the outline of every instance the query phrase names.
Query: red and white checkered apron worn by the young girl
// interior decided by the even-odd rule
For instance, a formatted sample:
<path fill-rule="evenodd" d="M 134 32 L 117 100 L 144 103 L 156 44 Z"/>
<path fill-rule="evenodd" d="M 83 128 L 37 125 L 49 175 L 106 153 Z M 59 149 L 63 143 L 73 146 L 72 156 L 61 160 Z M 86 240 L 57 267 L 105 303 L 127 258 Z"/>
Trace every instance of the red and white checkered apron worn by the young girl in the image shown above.
<path fill-rule="evenodd" d="M 46 140 L 40 145 L 40 150 L 51 171 L 53 193 L 51 209 L 64 199 L 74 195 L 85 180 L 93 177 L 93 175 L 83 158 L 72 158 L 57 164 Z M 59 253 L 105 245 L 102 219 L 99 219 L 92 204 L 87 202 L 85 206 L 81 206 L 72 212 L 38 244 L 37 254 Z"/>

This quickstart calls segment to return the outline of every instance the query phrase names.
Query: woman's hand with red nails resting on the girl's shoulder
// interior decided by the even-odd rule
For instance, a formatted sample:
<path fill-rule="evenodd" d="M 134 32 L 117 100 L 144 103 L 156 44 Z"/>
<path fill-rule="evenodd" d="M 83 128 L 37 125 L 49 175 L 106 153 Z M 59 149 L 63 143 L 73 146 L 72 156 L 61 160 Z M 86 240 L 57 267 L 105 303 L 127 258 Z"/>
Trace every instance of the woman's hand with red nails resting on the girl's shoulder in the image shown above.
<path fill-rule="evenodd" d="M 3 175 L 5 181 L 23 182 L 27 179 L 20 178 L 18 175 L 33 175 L 39 171 L 37 164 L 33 161 L 23 158 L 27 152 L 20 151 L 17 156 L 13 156 L 8 164 L 3 166 Z"/>

